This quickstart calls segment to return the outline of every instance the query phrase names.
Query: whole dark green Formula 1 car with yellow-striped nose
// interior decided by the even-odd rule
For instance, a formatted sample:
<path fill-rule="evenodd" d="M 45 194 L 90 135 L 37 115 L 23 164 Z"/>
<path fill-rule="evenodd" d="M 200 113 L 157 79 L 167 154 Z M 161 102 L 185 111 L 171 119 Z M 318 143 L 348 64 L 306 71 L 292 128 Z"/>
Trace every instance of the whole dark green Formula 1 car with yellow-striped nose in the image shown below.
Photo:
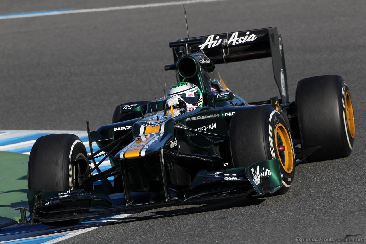
<path fill-rule="evenodd" d="M 30 219 L 23 208 L 22 223 L 70 224 L 132 210 L 282 194 L 294 181 L 295 164 L 350 155 L 355 123 L 346 82 L 338 75 L 305 78 L 296 101 L 288 101 L 276 27 L 186 38 L 169 47 L 174 64 L 165 70 L 175 70 L 177 82 L 198 86 L 203 106 L 177 113 L 165 95 L 121 104 L 113 123 L 90 131 L 87 122 L 90 155 L 75 135 L 40 137 L 29 157 Z M 247 103 L 226 86 L 215 64 L 259 58 L 272 58 L 279 96 Z M 93 152 L 92 143 L 100 149 Z M 111 168 L 101 171 L 106 159 Z"/>

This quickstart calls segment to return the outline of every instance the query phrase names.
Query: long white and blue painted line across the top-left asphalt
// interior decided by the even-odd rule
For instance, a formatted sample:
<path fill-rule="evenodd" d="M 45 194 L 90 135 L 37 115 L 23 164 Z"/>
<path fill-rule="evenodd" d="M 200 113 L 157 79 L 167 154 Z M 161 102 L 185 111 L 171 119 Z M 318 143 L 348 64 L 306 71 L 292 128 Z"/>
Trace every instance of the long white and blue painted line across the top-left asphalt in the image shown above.
<path fill-rule="evenodd" d="M 139 5 L 127 5 L 119 7 L 108 7 L 108 8 L 90 8 L 81 10 L 69 10 L 69 11 L 45 11 L 45 12 L 29 12 L 22 14 L 7 14 L 0 15 L 0 19 L 16 19 L 16 18 L 29 18 L 37 16 L 50 16 L 50 15 L 61 15 L 61 14 L 78 14 L 78 13 L 92 13 L 92 12 L 105 12 L 105 11 L 115 11 L 115 10 L 127 10 L 127 9 L 137 9 L 137 8 L 152 8 L 152 7 L 164 7 L 172 5 L 182 5 L 191 3 L 210 3 L 216 1 L 228 1 L 228 0 L 186 0 L 186 1 L 174 1 L 166 3 L 151 3 L 151 4 L 139 4 Z"/>

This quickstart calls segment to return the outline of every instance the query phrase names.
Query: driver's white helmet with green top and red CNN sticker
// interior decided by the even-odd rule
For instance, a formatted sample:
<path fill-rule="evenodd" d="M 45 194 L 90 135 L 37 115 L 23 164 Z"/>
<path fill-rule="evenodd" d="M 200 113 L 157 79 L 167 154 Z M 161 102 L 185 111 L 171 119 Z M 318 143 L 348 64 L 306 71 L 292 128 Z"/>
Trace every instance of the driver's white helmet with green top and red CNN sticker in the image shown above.
<path fill-rule="evenodd" d="M 179 96 L 179 104 L 174 106 L 174 108 L 197 108 L 203 105 L 201 90 L 190 82 L 178 82 L 169 88 L 167 98 L 169 99 L 173 96 Z"/>

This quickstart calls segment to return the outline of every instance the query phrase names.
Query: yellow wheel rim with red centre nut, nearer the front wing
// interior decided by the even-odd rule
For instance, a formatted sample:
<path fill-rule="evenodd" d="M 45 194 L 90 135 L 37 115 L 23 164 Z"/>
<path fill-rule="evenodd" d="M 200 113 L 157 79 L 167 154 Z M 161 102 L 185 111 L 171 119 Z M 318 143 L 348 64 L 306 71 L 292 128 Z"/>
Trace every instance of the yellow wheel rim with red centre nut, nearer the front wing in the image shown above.
<path fill-rule="evenodd" d="M 291 173 L 292 168 L 294 167 L 294 154 L 292 152 L 290 136 L 288 135 L 286 128 L 281 123 L 276 125 L 275 132 L 275 143 L 278 159 L 280 160 L 280 164 L 285 172 Z M 280 151 L 280 146 L 284 147 L 283 152 Z"/>

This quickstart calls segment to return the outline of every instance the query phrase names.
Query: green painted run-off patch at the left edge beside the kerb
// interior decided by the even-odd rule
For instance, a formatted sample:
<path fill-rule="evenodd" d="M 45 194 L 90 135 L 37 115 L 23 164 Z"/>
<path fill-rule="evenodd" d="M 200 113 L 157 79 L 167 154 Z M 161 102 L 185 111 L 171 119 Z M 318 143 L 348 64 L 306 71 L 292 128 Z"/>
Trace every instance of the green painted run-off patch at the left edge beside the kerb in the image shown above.
<path fill-rule="evenodd" d="M 29 155 L 13 152 L 0 152 L 0 228 L 18 223 L 20 211 L 26 207 L 27 170 Z"/>

